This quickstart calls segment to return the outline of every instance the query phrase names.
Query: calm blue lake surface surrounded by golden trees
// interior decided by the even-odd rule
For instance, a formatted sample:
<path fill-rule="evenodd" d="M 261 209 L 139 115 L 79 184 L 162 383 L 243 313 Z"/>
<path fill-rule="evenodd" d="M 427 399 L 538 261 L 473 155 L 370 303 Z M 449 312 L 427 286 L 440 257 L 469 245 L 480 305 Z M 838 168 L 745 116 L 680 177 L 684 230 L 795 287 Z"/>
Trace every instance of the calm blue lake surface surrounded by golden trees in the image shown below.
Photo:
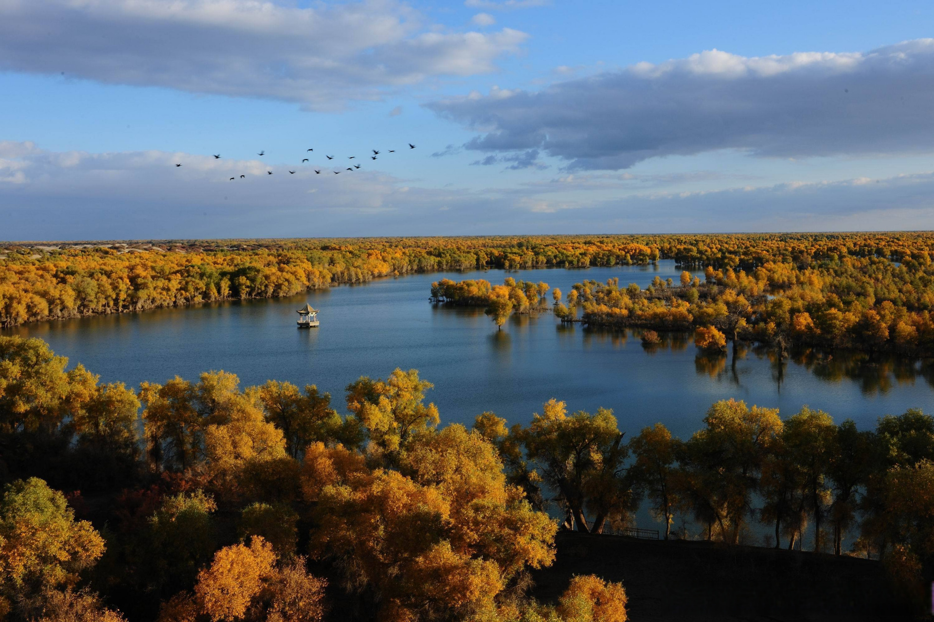
<path fill-rule="evenodd" d="M 620 428 L 638 432 L 665 422 L 690 435 L 712 402 L 727 397 L 781 408 L 822 408 L 836 421 L 870 427 L 877 417 L 907 408 L 931 410 L 929 364 L 867 361 L 834 352 L 803 355 L 781 369 L 766 352 L 698 356 L 689 336 L 672 336 L 646 352 L 636 333 L 559 325 L 550 313 L 514 316 L 501 332 L 478 309 L 432 305 L 432 281 L 505 276 L 545 281 L 563 292 L 583 279 L 644 287 L 658 275 L 677 282 L 672 261 L 657 266 L 588 270 L 502 270 L 424 274 L 273 300 L 227 302 L 48 322 L 2 331 L 39 337 L 83 363 L 102 381 L 164 381 L 176 374 L 196 380 L 224 369 L 243 386 L 268 379 L 317 384 L 343 410 L 344 387 L 361 375 L 385 378 L 395 367 L 417 368 L 434 383 L 429 399 L 443 422 L 473 422 L 492 410 L 509 422 L 528 422 L 542 403 L 558 397 L 568 407 L 613 408 Z M 550 294 L 549 294 L 550 300 Z M 295 327 L 307 301 L 321 310 L 318 329 Z"/>

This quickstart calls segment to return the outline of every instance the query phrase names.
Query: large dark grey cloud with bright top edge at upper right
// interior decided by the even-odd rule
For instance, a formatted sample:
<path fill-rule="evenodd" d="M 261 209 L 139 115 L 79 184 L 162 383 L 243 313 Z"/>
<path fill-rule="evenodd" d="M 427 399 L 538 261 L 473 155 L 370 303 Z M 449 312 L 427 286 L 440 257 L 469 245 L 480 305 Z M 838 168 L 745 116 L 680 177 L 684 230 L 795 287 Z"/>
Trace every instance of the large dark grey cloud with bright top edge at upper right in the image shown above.
<path fill-rule="evenodd" d="M 469 149 L 537 149 L 572 171 L 725 148 L 782 158 L 922 153 L 934 145 L 934 39 L 758 58 L 714 49 L 428 106 L 480 132 Z"/>

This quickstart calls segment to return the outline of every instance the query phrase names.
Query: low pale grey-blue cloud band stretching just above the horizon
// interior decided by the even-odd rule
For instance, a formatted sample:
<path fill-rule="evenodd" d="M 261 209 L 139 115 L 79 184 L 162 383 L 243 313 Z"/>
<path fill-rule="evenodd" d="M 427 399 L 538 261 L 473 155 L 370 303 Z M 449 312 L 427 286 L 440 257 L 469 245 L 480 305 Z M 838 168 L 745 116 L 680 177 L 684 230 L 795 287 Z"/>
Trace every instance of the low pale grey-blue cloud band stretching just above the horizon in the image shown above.
<path fill-rule="evenodd" d="M 934 228 L 934 173 L 660 189 L 678 181 L 584 173 L 439 189 L 378 171 L 291 175 L 258 160 L 0 142 L 0 240 Z M 630 194 L 608 199 L 607 190 Z"/>

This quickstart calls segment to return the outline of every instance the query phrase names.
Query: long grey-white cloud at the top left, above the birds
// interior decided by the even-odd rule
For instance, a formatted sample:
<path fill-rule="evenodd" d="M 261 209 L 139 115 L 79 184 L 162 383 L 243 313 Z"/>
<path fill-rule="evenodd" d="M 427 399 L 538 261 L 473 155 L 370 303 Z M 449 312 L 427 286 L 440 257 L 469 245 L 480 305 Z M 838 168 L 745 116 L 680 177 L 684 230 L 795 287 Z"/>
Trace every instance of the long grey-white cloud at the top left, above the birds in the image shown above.
<path fill-rule="evenodd" d="M 496 69 L 524 33 L 438 32 L 395 0 L 0 0 L 0 70 L 297 102 Z"/>

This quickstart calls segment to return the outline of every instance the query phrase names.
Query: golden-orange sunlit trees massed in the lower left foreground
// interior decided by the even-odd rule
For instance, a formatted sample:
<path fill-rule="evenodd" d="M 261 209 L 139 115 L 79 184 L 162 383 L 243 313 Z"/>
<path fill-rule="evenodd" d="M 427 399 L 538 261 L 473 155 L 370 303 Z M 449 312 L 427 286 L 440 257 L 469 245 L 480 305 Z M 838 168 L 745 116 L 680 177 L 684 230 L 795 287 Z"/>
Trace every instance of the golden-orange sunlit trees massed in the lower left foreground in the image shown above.
<path fill-rule="evenodd" d="M 351 382 L 341 415 L 313 386 L 242 389 L 211 371 L 137 394 L 66 371 L 38 339 L 0 338 L 0 352 L 3 617 L 119 622 L 119 607 L 161 622 L 316 622 L 346 595 L 359 619 L 623 619 L 601 613 L 625 611 L 619 587 L 593 592 L 592 612 L 589 591 L 569 592 L 573 610 L 526 595 L 558 524 L 512 477 L 514 448 L 438 427 L 414 369 Z M 63 493 L 16 478 L 41 471 L 47 448 L 65 466 L 50 479 L 90 477 L 115 505 L 95 513 L 106 544 Z M 115 451 L 132 465 L 116 481 L 68 468 Z M 92 576 L 103 594 L 80 583 Z"/>

